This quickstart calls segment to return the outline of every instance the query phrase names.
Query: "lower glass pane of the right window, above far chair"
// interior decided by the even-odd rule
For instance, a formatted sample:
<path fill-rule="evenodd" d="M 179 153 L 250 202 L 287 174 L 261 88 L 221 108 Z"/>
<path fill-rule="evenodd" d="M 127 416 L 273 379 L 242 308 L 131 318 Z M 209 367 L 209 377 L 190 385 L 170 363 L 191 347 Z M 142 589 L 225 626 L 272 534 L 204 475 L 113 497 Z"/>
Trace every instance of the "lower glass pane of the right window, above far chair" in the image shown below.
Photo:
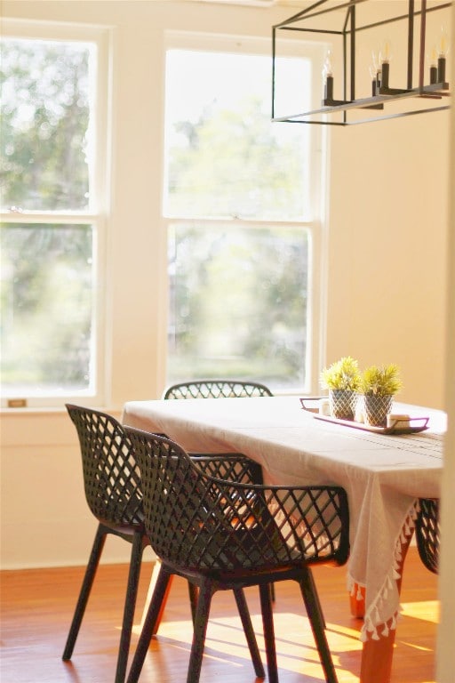
<path fill-rule="evenodd" d="M 301 228 L 172 226 L 169 382 L 304 384 L 308 242 Z"/>

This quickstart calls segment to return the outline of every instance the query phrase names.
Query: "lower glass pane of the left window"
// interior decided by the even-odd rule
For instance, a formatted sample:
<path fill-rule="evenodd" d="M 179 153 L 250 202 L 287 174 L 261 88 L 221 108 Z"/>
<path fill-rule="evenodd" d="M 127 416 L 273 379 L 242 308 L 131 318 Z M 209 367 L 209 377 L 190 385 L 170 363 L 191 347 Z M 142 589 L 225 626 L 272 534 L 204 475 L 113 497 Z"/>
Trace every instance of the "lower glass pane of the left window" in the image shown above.
<path fill-rule="evenodd" d="M 75 394 L 92 387 L 91 225 L 1 229 L 4 393 Z"/>

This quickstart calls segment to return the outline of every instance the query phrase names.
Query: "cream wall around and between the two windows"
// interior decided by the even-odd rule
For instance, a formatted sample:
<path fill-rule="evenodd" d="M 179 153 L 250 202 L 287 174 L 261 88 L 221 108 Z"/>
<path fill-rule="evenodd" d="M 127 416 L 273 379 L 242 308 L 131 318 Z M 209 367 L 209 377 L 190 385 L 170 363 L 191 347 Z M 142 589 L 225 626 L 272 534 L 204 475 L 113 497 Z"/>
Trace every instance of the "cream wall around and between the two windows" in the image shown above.
<path fill-rule="evenodd" d="M 113 28 L 106 409 L 118 416 L 125 400 L 157 398 L 164 387 L 156 325 L 165 282 L 164 28 L 269 37 L 289 8 L 6 0 L 1 10 Z M 444 404 L 448 121 L 432 114 L 331 132 L 326 358 L 395 361 L 403 398 L 436 407 Z M 3 566 L 83 564 L 93 521 L 67 414 L 5 411 L 2 422 Z M 121 543 L 108 544 L 108 561 L 125 558 Z"/>

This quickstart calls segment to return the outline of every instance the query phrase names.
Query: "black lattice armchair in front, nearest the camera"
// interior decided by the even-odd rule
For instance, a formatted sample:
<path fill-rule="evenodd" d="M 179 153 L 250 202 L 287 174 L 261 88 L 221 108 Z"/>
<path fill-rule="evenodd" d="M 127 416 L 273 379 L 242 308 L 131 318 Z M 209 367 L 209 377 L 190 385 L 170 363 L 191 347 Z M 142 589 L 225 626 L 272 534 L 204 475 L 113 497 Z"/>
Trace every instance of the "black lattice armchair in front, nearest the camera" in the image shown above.
<path fill-rule="evenodd" d="M 140 677 L 172 575 L 183 576 L 199 589 L 187 683 L 199 680 L 213 594 L 233 590 L 236 597 L 253 585 L 259 586 L 268 679 L 277 683 L 269 584 L 286 579 L 299 583 L 325 679 L 336 683 L 309 566 L 347 561 L 349 516 L 344 489 L 243 484 L 216 476 L 220 465 L 212 476 L 170 439 L 125 430 L 140 466 L 146 529 L 161 560 L 127 683 Z M 231 454 L 227 465 L 221 465 L 236 470 L 245 460 L 237 455 L 235 462 Z M 263 677 L 250 650 L 256 675 Z"/>

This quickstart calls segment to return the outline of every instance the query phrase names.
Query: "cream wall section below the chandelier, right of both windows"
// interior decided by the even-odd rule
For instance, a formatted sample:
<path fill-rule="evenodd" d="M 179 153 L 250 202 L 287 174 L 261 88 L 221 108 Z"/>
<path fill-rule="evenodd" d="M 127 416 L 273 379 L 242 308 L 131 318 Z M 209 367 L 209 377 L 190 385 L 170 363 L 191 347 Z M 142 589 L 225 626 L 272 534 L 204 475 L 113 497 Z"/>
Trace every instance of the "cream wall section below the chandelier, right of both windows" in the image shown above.
<path fill-rule="evenodd" d="M 395 362 L 443 407 L 449 112 L 332 133 L 327 358 Z M 345 266 L 345 268 L 343 268 Z"/>

